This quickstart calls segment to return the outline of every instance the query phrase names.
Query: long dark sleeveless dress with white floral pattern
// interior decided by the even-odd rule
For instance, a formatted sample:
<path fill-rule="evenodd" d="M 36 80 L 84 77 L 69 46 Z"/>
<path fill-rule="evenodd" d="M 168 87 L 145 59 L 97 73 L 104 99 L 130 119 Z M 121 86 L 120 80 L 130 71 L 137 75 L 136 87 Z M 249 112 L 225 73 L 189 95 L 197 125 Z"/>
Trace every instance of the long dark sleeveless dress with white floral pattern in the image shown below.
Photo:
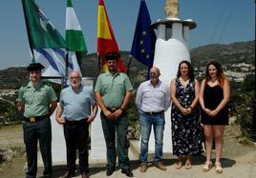
<path fill-rule="evenodd" d="M 189 108 L 195 98 L 195 81 L 189 81 L 184 88 L 176 78 L 176 98 L 183 108 Z M 196 155 L 203 152 L 203 132 L 200 128 L 200 110 L 195 107 L 188 115 L 172 104 L 173 154 Z"/>

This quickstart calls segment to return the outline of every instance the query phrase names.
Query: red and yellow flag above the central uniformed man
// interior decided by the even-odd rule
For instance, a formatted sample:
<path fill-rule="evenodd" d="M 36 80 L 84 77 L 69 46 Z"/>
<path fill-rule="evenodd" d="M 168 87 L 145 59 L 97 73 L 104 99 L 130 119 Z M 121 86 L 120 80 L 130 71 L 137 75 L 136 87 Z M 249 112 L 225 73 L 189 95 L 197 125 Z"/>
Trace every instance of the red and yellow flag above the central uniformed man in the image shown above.
<path fill-rule="evenodd" d="M 104 1 L 99 0 L 97 10 L 97 52 L 101 55 L 104 71 L 107 70 L 107 62 L 104 56 L 109 51 L 116 51 L 119 53 L 117 41 L 109 22 Z M 120 58 L 117 60 L 117 69 L 121 72 L 126 72 Z"/>

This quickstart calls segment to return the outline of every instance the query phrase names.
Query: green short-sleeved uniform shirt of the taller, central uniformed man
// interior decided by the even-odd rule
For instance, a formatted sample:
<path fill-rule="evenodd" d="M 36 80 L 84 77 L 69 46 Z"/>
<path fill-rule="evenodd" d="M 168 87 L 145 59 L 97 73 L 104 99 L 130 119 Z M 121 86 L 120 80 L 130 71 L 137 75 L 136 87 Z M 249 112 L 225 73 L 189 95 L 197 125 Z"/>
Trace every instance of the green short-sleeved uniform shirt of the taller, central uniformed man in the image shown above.
<path fill-rule="evenodd" d="M 119 108 L 126 94 L 132 90 L 130 79 L 124 73 L 112 75 L 109 71 L 100 74 L 96 80 L 95 91 L 100 92 L 106 108 Z"/>

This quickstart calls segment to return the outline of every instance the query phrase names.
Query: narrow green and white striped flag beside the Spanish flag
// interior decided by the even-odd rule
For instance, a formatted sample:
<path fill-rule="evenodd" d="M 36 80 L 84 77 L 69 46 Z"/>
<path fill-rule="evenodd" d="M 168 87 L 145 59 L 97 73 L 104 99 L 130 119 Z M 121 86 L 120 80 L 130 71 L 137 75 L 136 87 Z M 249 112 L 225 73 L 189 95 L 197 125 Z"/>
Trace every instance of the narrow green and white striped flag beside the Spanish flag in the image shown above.
<path fill-rule="evenodd" d="M 75 15 L 72 0 L 67 0 L 66 10 L 66 43 L 69 50 L 69 60 L 76 70 L 80 71 L 81 60 L 87 53 L 83 32 Z M 79 65 L 79 66 L 78 66 Z"/>

